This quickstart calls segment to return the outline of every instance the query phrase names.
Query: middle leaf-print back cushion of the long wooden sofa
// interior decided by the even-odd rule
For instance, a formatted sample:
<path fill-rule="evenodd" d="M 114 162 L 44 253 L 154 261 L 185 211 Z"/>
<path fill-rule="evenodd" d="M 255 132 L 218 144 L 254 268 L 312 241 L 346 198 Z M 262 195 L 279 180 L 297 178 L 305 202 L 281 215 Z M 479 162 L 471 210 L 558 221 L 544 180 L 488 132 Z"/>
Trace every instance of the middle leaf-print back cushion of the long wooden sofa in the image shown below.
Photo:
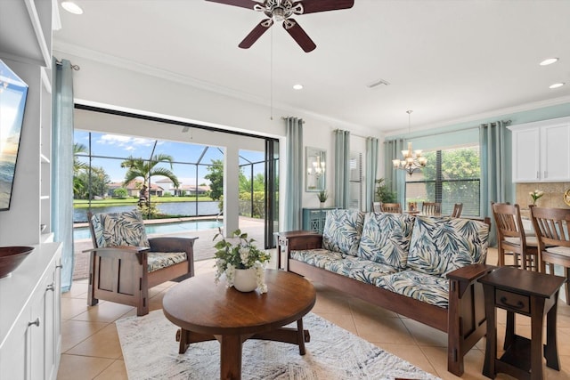
<path fill-rule="evenodd" d="M 414 217 L 409 214 L 368 213 L 357 255 L 395 268 L 405 268 Z"/>

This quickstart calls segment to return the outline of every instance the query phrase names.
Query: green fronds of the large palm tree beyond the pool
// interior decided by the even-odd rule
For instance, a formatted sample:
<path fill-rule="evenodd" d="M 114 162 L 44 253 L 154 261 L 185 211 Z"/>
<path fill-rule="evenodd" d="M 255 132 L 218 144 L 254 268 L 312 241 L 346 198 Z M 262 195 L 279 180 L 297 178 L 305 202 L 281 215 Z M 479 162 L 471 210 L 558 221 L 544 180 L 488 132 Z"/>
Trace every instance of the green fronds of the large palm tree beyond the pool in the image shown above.
<path fill-rule="evenodd" d="M 171 170 L 166 167 L 155 167 L 160 162 L 168 162 L 170 164 L 170 168 L 172 168 L 173 161 L 174 158 L 167 154 L 154 155 L 150 160 L 129 156 L 125 161 L 121 162 L 121 167 L 128 168 L 128 171 L 125 174 L 125 181 L 123 183 L 126 186 L 136 178 L 142 177 L 142 188 L 148 188 L 148 184 L 151 182 L 152 176 L 162 175 L 172 181 L 177 188 L 180 186 L 180 182 L 178 182 L 178 178 Z"/>

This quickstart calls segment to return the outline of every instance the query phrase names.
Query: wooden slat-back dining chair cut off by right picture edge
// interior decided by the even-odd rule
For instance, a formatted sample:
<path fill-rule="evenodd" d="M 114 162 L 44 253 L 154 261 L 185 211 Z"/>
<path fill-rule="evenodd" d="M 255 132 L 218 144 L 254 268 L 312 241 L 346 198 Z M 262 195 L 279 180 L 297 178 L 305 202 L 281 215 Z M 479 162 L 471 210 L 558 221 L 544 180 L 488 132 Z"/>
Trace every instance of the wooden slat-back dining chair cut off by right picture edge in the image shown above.
<path fill-rule="evenodd" d="M 541 254 L 541 271 L 554 274 L 554 265 L 564 268 L 566 304 L 570 305 L 570 208 L 529 206 Z"/>

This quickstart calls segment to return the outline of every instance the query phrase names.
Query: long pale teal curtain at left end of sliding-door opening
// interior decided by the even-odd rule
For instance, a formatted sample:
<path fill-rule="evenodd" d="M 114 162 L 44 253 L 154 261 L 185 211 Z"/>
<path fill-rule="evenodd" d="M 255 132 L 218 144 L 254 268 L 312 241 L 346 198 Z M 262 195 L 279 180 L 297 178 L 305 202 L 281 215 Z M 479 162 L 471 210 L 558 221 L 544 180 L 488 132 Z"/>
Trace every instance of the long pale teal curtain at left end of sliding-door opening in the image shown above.
<path fill-rule="evenodd" d="M 53 58 L 52 226 L 61 242 L 61 291 L 73 282 L 73 76 L 71 63 Z"/>

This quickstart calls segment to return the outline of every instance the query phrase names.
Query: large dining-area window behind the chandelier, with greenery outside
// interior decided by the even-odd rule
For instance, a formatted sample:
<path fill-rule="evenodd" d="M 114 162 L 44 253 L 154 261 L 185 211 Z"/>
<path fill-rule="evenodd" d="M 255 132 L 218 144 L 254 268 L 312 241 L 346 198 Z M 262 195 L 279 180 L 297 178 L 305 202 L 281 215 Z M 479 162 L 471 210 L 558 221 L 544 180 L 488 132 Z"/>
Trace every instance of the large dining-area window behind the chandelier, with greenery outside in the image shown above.
<path fill-rule="evenodd" d="M 406 174 L 406 204 L 440 202 L 442 214 L 451 214 L 453 205 L 462 203 L 462 215 L 479 216 L 479 146 L 429 151 L 424 155 L 428 166 L 421 172 Z"/>

